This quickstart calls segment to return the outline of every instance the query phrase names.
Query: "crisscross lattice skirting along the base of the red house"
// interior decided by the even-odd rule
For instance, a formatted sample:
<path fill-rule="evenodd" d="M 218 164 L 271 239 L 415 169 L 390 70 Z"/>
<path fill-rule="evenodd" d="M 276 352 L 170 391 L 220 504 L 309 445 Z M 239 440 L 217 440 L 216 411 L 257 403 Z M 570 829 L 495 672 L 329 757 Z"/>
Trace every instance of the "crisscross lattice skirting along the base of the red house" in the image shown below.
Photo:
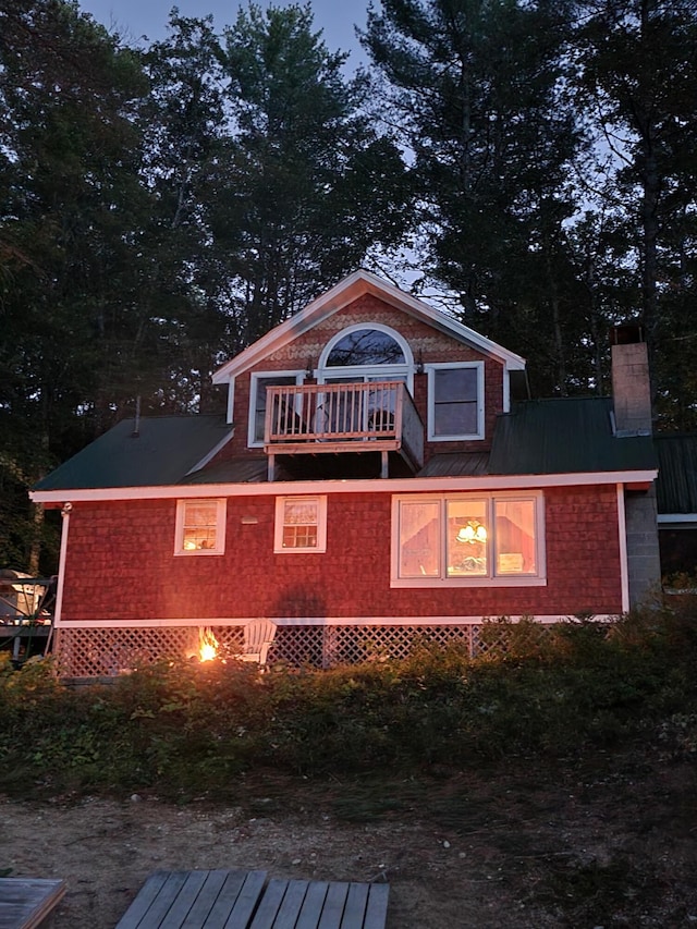
<path fill-rule="evenodd" d="M 460 626 L 279 626 L 269 651 L 269 663 L 285 662 L 298 668 L 331 668 L 364 661 L 406 658 L 424 645 L 462 645 L 470 656 L 481 655 L 494 644 L 491 631 L 481 625 Z M 213 626 L 221 657 L 239 653 L 241 626 Z M 504 633 L 501 633 L 503 638 Z M 157 628 L 60 628 L 54 655 L 65 677 L 107 677 L 168 659 L 198 655 L 200 629 Z"/>

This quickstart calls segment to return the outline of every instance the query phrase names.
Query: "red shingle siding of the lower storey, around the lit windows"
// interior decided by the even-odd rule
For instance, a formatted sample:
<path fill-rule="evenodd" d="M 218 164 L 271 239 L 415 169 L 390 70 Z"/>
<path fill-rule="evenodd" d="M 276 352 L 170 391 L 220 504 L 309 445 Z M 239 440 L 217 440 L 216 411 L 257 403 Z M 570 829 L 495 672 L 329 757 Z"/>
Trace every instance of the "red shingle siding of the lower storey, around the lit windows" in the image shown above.
<path fill-rule="evenodd" d="M 545 498 L 548 583 L 519 588 L 392 589 L 389 492 L 330 494 L 321 554 L 273 553 L 271 496 L 228 501 L 224 555 L 173 555 L 174 500 L 78 503 L 71 515 L 63 619 L 127 624 L 620 612 L 614 488 L 552 488 Z"/>

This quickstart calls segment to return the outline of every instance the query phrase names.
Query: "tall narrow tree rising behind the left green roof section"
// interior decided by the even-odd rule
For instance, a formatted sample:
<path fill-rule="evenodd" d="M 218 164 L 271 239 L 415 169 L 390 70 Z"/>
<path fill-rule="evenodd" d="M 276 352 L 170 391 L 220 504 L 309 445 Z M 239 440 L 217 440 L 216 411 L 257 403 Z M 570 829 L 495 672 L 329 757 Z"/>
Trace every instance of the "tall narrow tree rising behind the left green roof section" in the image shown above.
<path fill-rule="evenodd" d="M 152 366 L 149 394 L 170 411 L 215 403 L 210 372 L 225 344 L 227 268 L 210 230 L 230 133 L 222 59 L 212 17 L 176 11 L 168 37 L 144 56 L 143 175 L 152 204 L 140 303 L 159 320 L 162 364 Z"/>

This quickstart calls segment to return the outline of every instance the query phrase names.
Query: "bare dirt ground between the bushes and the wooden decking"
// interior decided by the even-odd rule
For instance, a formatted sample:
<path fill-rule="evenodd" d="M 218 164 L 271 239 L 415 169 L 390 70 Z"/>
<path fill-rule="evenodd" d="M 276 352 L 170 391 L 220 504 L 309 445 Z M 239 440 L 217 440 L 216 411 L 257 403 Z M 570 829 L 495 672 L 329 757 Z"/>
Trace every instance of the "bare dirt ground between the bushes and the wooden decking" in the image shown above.
<path fill-rule="evenodd" d="M 241 806 L 0 797 L 0 872 L 68 881 L 54 929 L 110 929 L 152 870 L 236 867 L 388 881 L 390 929 L 697 925 L 695 771 L 659 774 L 449 774 L 388 787 L 382 809 L 296 782 Z"/>

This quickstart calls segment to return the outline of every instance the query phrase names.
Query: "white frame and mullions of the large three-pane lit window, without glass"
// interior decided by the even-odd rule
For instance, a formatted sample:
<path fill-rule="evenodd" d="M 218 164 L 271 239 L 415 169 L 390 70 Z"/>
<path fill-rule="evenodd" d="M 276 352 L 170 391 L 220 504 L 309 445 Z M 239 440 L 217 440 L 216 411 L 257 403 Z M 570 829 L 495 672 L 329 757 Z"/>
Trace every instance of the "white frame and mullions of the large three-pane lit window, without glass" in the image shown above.
<path fill-rule="evenodd" d="M 448 575 L 447 509 L 457 501 L 486 501 L 488 534 L 487 573 L 472 577 Z M 497 574 L 496 503 L 534 501 L 535 574 Z M 401 577 L 401 506 L 402 503 L 438 503 L 439 510 L 439 574 L 421 577 Z M 481 491 L 467 493 L 400 493 L 392 498 L 390 587 L 545 587 L 547 586 L 547 546 L 545 533 L 545 494 L 541 490 Z"/>

